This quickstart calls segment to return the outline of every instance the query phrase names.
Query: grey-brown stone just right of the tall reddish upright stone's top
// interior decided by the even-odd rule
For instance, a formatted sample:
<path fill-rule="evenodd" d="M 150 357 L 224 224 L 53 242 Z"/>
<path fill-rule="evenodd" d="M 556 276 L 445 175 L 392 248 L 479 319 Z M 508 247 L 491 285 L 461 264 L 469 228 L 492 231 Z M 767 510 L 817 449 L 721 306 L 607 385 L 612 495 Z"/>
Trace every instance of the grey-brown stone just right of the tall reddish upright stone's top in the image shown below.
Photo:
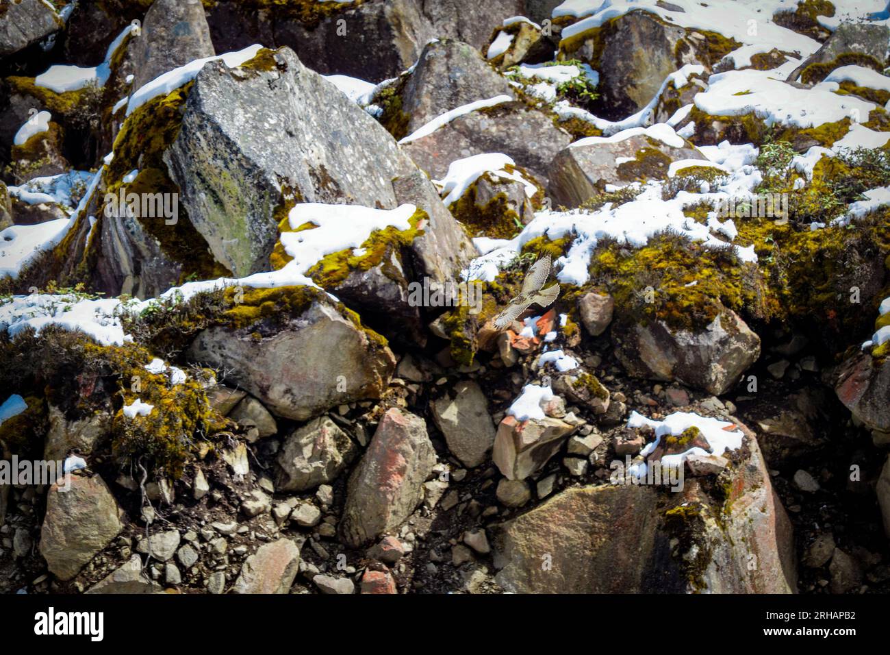
<path fill-rule="evenodd" d="M 433 418 L 449 450 L 466 467 L 485 462 L 495 441 L 488 400 L 479 385 L 461 381 L 454 387 L 455 397 L 448 394 L 433 401 Z"/>

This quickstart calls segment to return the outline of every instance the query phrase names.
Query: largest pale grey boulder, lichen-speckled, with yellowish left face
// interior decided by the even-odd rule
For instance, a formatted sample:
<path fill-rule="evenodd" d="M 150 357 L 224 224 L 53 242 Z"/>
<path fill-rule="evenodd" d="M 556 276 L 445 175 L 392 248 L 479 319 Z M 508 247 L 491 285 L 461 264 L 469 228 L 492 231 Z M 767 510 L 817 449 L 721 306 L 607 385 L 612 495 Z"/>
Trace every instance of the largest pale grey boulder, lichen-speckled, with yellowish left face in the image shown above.
<path fill-rule="evenodd" d="M 214 258 L 269 268 L 276 210 L 293 201 L 393 209 L 392 178 L 414 170 L 392 136 L 289 48 L 195 79 L 164 160 Z"/>

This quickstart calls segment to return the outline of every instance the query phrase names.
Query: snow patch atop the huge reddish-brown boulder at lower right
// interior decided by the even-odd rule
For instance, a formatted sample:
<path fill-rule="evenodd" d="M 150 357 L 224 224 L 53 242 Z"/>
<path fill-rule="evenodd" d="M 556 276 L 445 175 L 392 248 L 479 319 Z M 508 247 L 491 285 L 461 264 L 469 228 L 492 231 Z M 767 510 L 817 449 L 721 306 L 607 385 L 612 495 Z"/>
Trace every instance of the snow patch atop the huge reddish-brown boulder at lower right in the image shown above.
<path fill-rule="evenodd" d="M 640 452 L 644 457 L 658 447 L 662 437 L 676 437 L 689 428 L 698 428 L 701 431 L 701 435 L 711 446 L 710 454 L 722 455 L 727 450 L 737 450 L 741 447 L 744 438 L 744 434 L 734 423 L 700 416 L 692 412 L 668 414 L 664 421 L 653 421 L 641 413 L 632 412 L 627 419 L 628 428 L 642 428 L 644 425 L 655 430 L 655 440 L 647 444 Z M 735 428 L 735 430 L 726 430 L 727 428 Z M 708 454 L 708 451 L 696 446 L 684 453 L 665 455 L 661 458 L 661 464 L 662 466 L 676 467 L 684 463 L 691 454 Z"/>

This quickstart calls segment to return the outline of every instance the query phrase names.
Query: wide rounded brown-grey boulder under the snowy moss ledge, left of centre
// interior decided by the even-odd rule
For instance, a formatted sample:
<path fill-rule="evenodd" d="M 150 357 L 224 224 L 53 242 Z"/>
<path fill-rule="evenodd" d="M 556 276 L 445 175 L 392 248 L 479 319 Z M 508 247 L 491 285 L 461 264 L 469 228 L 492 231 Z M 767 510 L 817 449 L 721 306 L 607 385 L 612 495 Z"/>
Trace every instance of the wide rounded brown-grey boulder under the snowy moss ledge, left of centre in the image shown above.
<path fill-rule="evenodd" d="M 295 288 L 295 294 L 311 293 Z M 395 370 L 383 340 L 355 323 L 324 295 L 290 313 L 244 327 L 200 332 L 189 356 L 229 372 L 229 380 L 257 397 L 272 413 L 306 421 L 328 408 L 379 398 Z"/>

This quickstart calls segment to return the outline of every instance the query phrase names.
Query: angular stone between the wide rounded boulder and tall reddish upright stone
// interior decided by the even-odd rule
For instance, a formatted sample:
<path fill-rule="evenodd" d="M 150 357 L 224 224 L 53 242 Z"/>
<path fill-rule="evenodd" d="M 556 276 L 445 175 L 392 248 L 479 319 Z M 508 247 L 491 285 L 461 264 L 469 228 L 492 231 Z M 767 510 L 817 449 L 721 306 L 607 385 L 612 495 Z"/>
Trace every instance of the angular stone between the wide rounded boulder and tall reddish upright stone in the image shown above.
<path fill-rule="evenodd" d="M 276 486 L 281 491 L 306 491 L 332 482 L 358 452 L 349 435 L 321 416 L 285 439 L 276 460 Z"/>

